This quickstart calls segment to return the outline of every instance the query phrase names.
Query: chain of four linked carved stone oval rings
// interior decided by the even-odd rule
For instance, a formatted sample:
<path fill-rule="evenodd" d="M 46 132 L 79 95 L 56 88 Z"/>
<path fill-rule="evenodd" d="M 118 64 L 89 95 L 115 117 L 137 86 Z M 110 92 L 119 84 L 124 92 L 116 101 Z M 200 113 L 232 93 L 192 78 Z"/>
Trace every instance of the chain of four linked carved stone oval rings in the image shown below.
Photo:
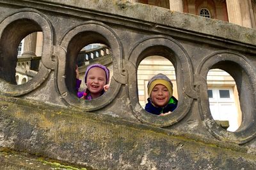
<path fill-rule="evenodd" d="M 230 141 L 235 141 L 236 143 L 244 143 L 254 137 L 253 131 L 250 130 L 246 139 L 239 139 L 239 133 L 244 133 L 244 131 L 235 132 L 234 134 L 237 134 L 236 138 L 228 138 L 228 133 L 230 132 L 221 130 L 211 118 L 211 111 L 209 110 L 207 103 L 207 94 L 205 94 L 207 91 L 207 84 L 204 81 L 207 74 L 205 67 L 213 67 L 215 66 L 214 64 L 217 64 L 218 66 L 217 62 L 227 60 L 227 63 L 233 61 L 238 64 L 241 68 L 241 73 L 244 70 L 246 73 L 248 72 L 248 74 L 249 72 L 252 72 L 252 69 L 248 70 L 248 68 L 252 67 L 249 64 L 248 59 L 244 56 L 241 57 L 242 55 L 231 52 L 215 52 L 208 57 L 202 58 L 197 72 L 194 74 L 193 67 L 195 66 L 193 66 L 193 62 L 191 62 L 191 57 L 188 55 L 189 52 L 186 51 L 179 41 L 171 38 L 170 36 L 144 36 L 143 38 L 137 38 L 137 41 L 132 42 L 133 44 L 130 45 L 131 50 L 129 50 L 128 54 L 124 55 L 124 45 L 118 37 L 118 32 L 115 32 L 114 29 L 102 22 L 86 21 L 72 27 L 67 27 L 67 31 L 63 32 L 61 38 L 59 38 L 60 41 L 58 41 L 54 46 L 52 45 L 52 39 L 56 36 L 54 35 L 56 32 L 53 30 L 58 30 L 58 28 L 52 29 L 52 24 L 49 19 L 39 11 L 28 9 L 17 10 L 15 13 L 11 13 L 7 17 L 2 18 L 0 24 L 0 48 L 2 49 L 4 49 L 4 46 L 8 45 L 5 42 L 6 39 L 11 38 L 8 37 L 8 35 L 10 35 L 10 31 L 13 31 L 13 25 L 19 24 L 23 28 L 22 32 L 17 32 L 15 34 L 15 37 L 13 38 L 16 41 L 15 43 L 19 42 L 20 38 L 25 34 L 28 34 L 28 32 L 42 31 L 44 33 L 44 49 L 42 52 L 43 64 L 42 67 L 40 67 L 38 74 L 36 74 L 33 80 L 29 81 L 29 83 L 25 83 L 24 85 L 12 85 L 13 80 L 8 80 L 8 78 L 4 77 L 4 71 L 12 75 L 12 70 L 9 71 L 7 70 L 8 68 L 1 66 L 1 69 L 3 70 L 1 73 L 2 94 L 7 96 L 28 94 L 42 85 L 50 71 L 53 70 L 56 72 L 55 81 L 56 85 L 58 85 L 58 94 L 61 99 L 63 99 L 65 105 L 81 108 L 85 111 L 99 110 L 100 108 L 104 108 L 104 106 L 110 104 L 111 101 L 115 99 L 118 92 L 120 92 L 122 85 L 127 85 L 132 113 L 136 118 L 138 118 L 138 120 L 145 124 L 156 125 L 159 127 L 168 127 L 173 125 L 186 117 L 188 111 L 191 110 L 193 102 L 197 100 L 198 107 L 200 108 L 198 111 L 200 112 L 202 120 L 207 129 L 216 136 L 216 138 L 226 138 L 230 139 Z M 26 27 L 26 25 L 31 26 Z M 93 101 L 80 100 L 74 95 L 74 91 L 72 91 L 74 85 L 72 82 L 74 82 L 75 76 L 73 71 L 70 70 L 73 70 L 75 67 L 74 63 L 76 61 L 76 54 L 79 52 L 78 50 L 86 44 L 97 41 L 105 43 L 112 51 L 114 74 L 111 81 L 111 88 L 106 92 L 106 95 Z M 15 55 L 15 53 L 10 55 L 13 51 L 15 50 L 10 48 L 8 48 L 8 50 L 2 50 L 1 58 L 5 62 L 2 62 L 3 64 L 8 63 L 11 66 L 13 65 L 11 61 L 15 59 L 11 56 Z M 136 76 L 131 75 L 136 75 L 137 67 L 141 60 L 149 55 L 162 55 L 163 57 L 166 57 L 166 59 L 172 61 L 176 70 L 177 84 L 179 87 L 178 94 L 180 97 L 179 107 L 168 117 L 156 118 L 154 115 L 148 114 L 147 111 L 141 108 L 138 102 Z M 234 55 L 235 57 L 232 58 L 230 55 Z M 241 62 L 240 59 L 244 59 L 246 62 Z M 209 63 L 211 60 L 216 60 L 216 63 L 213 63 L 212 61 L 212 65 L 208 64 L 205 66 L 205 64 Z M 244 65 L 242 63 L 247 63 L 248 66 L 243 67 Z M 236 73 L 234 72 L 234 74 Z M 250 73 L 250 75 L 253 75 L 253 72 L 252 74 Z M 248 82 L 252 81 L 250 78 L 251 76 L 247 76 Z M 240 80 L 241 78 L 237 77 L 237 79 Z M 253 84 L 253 82 L 251 83 Z M 242 89 L 240 90 L 241 94 L 245 93 Z M 251 98 L 253 100 L 250 104 L 254 104 L 254 96 L 251 96 Z M 248 107 L 244 106 L 244 108 Z M 253 117 L 251 110 L 244 110 L 246 110 L 244 115 L 251 115 L 250 117 Z M 250 126 L 250 122 L 247 126 Z M 250 126 L 250 129 L 254 128 L 254 126 Z M 241 129 L 246 129 L 246 125 L 242 126 Z"/>

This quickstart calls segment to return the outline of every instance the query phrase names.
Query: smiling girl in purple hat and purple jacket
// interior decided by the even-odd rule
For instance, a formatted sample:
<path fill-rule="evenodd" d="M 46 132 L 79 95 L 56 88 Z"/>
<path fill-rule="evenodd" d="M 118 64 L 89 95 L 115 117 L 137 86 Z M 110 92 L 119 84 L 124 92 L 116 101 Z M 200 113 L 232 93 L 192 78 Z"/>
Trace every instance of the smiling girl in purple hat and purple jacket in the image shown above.
<path fill-rule="evenodd" d="M 79 72 L 76 67 L 76 90 L 77 97 L 86 100 L 92 100 L 102 96 L 109 88 L 109 69 L 101 64 L 92 64 L 87 67 L 84 74 L 84 83 L 86 89 L 79 92 L 81 80 L 79 80 Z"/>

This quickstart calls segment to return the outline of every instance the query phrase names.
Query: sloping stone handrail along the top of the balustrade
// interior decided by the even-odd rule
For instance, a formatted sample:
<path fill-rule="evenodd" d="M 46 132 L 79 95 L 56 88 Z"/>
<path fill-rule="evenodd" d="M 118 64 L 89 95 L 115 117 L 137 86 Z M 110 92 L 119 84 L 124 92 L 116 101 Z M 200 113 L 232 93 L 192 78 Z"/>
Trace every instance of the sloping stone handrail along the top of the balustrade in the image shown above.
<path fill-rule="evenodd" d="M 2 0 L 4 1 L 4 0 Z M 256 45 L 256 30 L 241 27 L 236 24 L 223 22 L 210 18 L 199 17 L 189 13 L 180 13 L 177 11 L 170 11 L 166 8 L 158 6 L 150 6 L 141 3 L 129 3 L 129 1 L 109 1 L 109 0 L 21 0 L 24 3 L 38 3 L 49 6 L 58 6 L 67 8 L 77 8 L 77 10 L 96 11 L 98 14 L 109 13 L 109 17 L 122 17 L 123 20 L 129 18 L 130 20 L 138 22 L 140 20 L 144 23 L 154 23 L 157 26 L 163 25 L 173 27 L 180 31 L 198 32 L 209 36 L 215 36 L 223 39 L 230 39 L 241 43 Z M 20 2 L 22 3 L 22 2 Z M 137 11 L 137 12 L 134 12 Z M 111 16 L 112 15 L 112 16 Z M 125 18 L 126 19 L 125 19 Z"/>

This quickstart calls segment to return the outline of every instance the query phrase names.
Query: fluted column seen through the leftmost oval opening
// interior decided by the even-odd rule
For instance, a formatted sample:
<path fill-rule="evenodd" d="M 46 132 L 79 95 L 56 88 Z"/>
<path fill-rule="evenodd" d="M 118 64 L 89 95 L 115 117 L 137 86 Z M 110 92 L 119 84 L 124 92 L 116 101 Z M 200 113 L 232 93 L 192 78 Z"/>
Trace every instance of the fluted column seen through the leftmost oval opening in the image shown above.
<path fill-rule="evenodd" d="M 36 36 L 37 33 L 33 32 L 25 37 L 22 57 L 36 56 Z"/>

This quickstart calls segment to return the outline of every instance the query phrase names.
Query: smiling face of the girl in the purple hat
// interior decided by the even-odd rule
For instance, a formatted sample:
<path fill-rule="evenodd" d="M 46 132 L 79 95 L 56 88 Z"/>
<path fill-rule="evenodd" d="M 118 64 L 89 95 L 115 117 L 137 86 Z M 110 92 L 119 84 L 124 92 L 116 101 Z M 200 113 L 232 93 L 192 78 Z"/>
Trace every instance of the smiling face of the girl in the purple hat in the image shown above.
<path fill-rule="evenodd" d="M 106 73 L 100 67 L 92 67 L 86 77 L 87 89 L 92 98 L 95 99 L 101 95 L 104 85 L 106 85 Z"/>

